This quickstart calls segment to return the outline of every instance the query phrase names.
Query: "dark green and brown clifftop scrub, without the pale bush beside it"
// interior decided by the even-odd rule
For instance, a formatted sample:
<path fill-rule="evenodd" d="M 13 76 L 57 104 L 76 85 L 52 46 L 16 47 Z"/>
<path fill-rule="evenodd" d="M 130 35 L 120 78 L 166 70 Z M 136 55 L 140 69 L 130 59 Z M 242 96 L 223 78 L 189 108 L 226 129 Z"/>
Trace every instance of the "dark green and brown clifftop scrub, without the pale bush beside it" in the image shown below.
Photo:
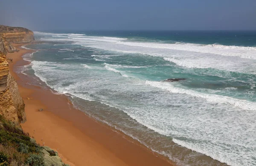
<path fill-rule="evenodd" d="M 43 158 L 37 155 L 41 149 L 27 133 L 0 116 L 0 152 L 8 155 L 8 161 L 0 166 L 43 166 Z"/>

